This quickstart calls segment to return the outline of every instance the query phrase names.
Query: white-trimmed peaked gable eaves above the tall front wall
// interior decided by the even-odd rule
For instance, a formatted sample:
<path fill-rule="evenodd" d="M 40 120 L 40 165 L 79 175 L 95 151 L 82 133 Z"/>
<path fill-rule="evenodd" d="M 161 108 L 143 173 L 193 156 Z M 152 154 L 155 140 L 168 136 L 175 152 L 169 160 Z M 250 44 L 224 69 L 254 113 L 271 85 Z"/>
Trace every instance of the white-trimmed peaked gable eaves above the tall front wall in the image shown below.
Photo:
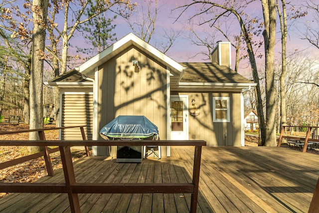
<path fill-rule="evenodd" d="M 142 49 L 147 54 L 151 55 L 154 58 L 157 58 L 162 64 L 170 68 L 170 72 L 176 75 L 180 75 L 183 72 L 183 67 L 171 59 L 170 57 L 166 56 L 160 50 L 156 49 L 152 45 L 148 44 L 138 36 L 134 35 L 133 33 L 129 33 L 99 54 L 93 56 L 83 64 L 81 64 L 76 69 L 86 75 L 91 71 L 94 71 L 95 67 L 98 67 L 108 61 L 113 56 L 117 55 L 125 48 L 131 45 L 137 46 Z"/>

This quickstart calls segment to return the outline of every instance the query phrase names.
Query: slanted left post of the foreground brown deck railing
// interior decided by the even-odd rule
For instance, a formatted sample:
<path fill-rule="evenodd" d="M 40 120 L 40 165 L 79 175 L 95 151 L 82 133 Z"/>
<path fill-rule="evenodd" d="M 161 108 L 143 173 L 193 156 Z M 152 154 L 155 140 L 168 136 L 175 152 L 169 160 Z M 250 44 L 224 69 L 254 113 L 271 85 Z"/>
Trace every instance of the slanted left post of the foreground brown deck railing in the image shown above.
<path fill-rule="evenodd" d="M 72 213 L 81 213 L 80 202 L 78 194 L 72 193 L 71 185 L 75 184 L 74 168 L 72 163 L 72 156 L 70 147 L 59 147 L 61 161 L 63 165 L 63 173 L 66 184 L 66 191 L 68 193 L 70 208 Z"/>

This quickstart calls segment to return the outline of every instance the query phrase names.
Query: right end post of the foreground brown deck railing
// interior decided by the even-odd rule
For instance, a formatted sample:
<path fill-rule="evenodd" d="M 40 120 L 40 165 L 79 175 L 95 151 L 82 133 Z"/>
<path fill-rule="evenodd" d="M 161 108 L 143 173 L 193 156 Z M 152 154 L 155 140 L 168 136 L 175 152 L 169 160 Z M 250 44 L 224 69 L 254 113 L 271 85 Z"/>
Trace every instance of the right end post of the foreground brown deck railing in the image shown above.
<path fill-rule="evenodd" d="M 195 146 L 194 165 L 193 165 L 193 181 L 192 181 L 194 184 L 194 193 L 191 194 L 190 211 L 189 211 L 190 213 L 196 213 L 196 208 L 197 208 L 201 148 L 202 148 L 201 146 Z"/>

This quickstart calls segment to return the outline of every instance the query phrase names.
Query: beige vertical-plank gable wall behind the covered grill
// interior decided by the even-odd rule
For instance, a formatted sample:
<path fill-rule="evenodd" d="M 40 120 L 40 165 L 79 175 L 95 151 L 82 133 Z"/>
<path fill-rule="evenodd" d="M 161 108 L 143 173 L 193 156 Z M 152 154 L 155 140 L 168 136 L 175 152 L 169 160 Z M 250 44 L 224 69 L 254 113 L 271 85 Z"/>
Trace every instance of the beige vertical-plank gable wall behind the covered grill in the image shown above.
<path fill-rule="evenodd" d="M 139 61 L 136 72 L 132 60 Z M 98 127 L 119 115 L 144 115 L 166 139 L 166 67 L 135 46 L 124 49 L 98 71 Z"/>

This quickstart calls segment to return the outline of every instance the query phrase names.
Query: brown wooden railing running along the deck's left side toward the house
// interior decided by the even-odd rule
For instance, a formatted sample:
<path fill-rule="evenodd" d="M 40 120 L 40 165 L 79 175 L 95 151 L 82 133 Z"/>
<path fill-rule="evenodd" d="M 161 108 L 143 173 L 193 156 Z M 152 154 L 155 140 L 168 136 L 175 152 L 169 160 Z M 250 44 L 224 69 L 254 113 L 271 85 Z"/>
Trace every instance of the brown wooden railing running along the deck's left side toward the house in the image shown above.
<path fill-rule="evenodd" d="M 39 139 L 40 140 L 46 140 L 44 131 L 47 131 L 47 130 L 59 130 L 59 129 L 69 129 L 69 128 L 80 128 L 82 139 L 86 141 L 84 127 L 86 127 L 86 126 L 52 127 L 52 128 L 43 128 L 43 129 L 26 129 L 26 130 L 0 132 L 0 135 L 18 134 L 18 133 L 25 133 L 25 132 L 38 132 Z M 8 146 L 13 146 L 13 145 L 8 145 Z M 24 146 L 24 145 L 22 145 L 22 146 Z M 59 148 L 57 147 L 57 148 L 54 148 L 54 149 L 48 149 L 47 146 L 41 146 L 41 148 L 42 148 L 41 152 L 38 152 L 38 153 L 35 153 L 35 154 L 32 154 L 32 155 L 28 155 L 28 156 L 23 156 L 21 158 L 13 159 L 11 161 L 0 163 L 0 170 L 8 168 L 8 167 L 11 167 L 11 166 L 14 166 L 14 165 L 17 165 L 17 164 L 20 164 L 20 163 L 23 163 L 23 162 L 26 162 L 26 161 L 29 161 L 29 160 L 32 160 L 32 159 L 37 159 L 37 158 L 43 156 L 48 176 L 53 176 L 54 174 L 53 174 L 52 163 L 51 163 L 51 160 L 50 160 L 50 154 L 54 153 L 54 152 L 58 152 Z M 86 155 L 90 156 L 89 148 L 87 146 L 85 147 L 85 151 L 86 151 Z"/>

